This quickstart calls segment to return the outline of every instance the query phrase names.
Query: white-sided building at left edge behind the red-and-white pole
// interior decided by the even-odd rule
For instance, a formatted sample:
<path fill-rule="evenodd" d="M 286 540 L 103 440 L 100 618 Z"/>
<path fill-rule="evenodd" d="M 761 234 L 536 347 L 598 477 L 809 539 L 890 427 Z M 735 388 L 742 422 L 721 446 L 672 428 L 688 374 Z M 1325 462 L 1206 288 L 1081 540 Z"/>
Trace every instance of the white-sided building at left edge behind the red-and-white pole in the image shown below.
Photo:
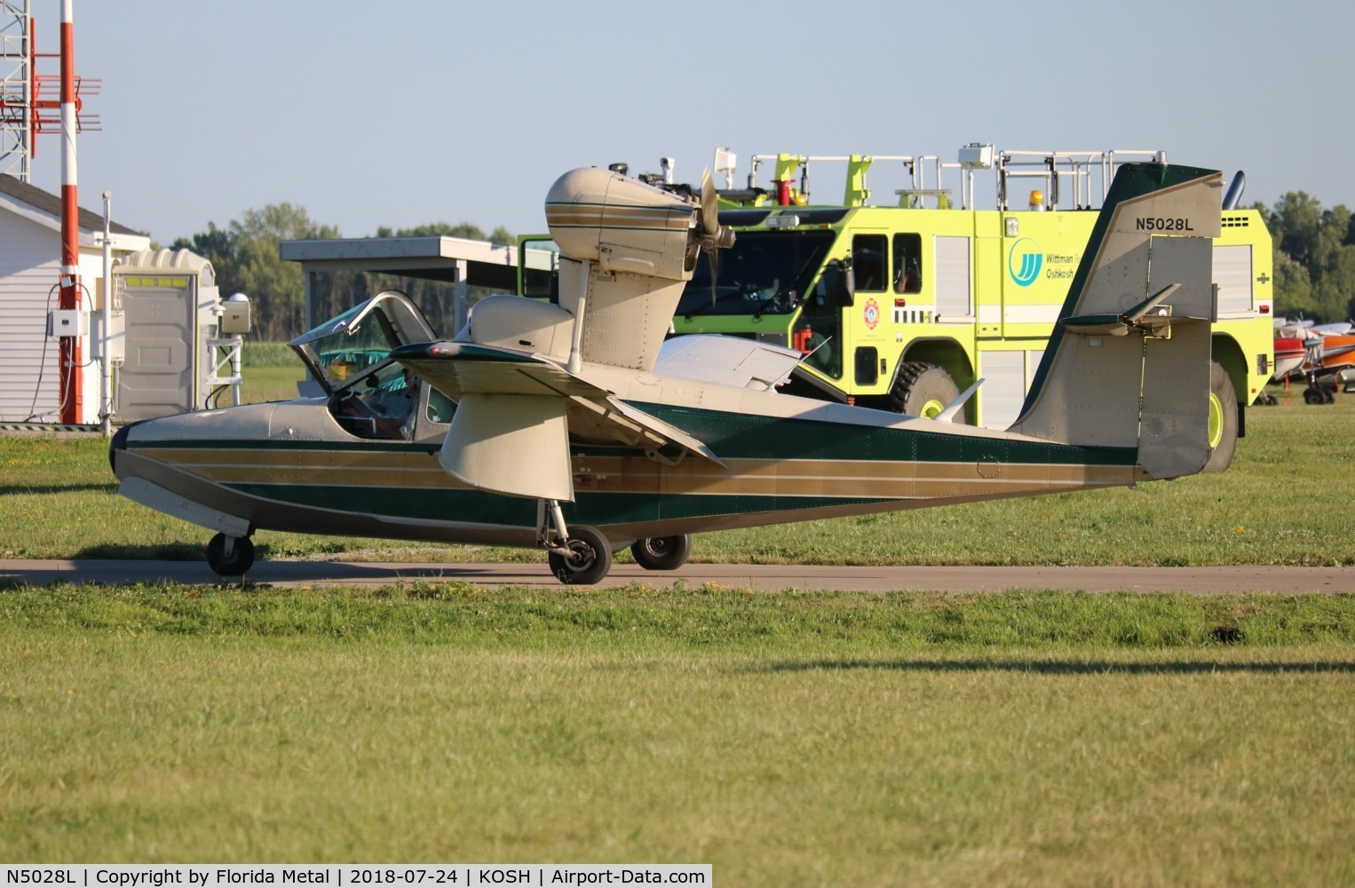
<path fill-rule="evenodd" d="M 80 210 L 81 308 L 98 328 L 103 308 L 103 217 Z M 114 260 L 148 249 L 150 239 L 125 225 L 110 226 Z M 0 423 L 58 423 L 60 340 L 47 336 L 47 313 L 60 305 L 61 198 L 0 175 Z M 80 423 L 99 418 L 100 366 L 96 336 L 81 336 L 85 365 L 77 377 Z"/>

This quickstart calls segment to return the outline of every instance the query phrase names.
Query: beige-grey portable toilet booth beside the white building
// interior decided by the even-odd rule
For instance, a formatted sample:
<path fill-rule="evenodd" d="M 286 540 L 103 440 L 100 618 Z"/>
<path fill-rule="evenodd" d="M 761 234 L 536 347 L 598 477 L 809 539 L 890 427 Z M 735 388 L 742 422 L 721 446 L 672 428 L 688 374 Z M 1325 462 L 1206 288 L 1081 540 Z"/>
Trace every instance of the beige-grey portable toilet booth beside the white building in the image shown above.
<path fill-rule="evenodd" d="M 187 249 L 136 252 L 112 267 L 112 296 L 123 315 L 118 422 L 203 409 L 221 310 L 211 263 Z"/>

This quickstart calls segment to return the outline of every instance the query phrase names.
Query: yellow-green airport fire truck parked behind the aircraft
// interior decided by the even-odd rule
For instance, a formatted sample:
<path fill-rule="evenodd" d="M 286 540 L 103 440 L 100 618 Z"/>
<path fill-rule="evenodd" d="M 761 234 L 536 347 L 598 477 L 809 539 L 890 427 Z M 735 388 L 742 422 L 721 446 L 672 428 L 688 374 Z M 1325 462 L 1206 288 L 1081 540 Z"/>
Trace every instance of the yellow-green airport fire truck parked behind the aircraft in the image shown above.
<path fill-rule="evenodd" d="M 749 186 L 721 191 L 720 221 L 734 228 L 737 241 L 698 268 L 673 331 L 798 348 L 806 358 L 790 384 L 797 393 L 919 416 L 936 416 L 982 380 L 957 420 L 1005 428 L 1020 413 L 1058 320 L 1095 206 L 1117 164 L 1144 153 L 1161 159 L 1160 152 L 997 152 L 991 145 L 962 148 L 955 164 L 935 156 L 753 157 Z M 717 153 L 717 169 L 720 160 Z M 847 164 L 839 205 L 809 199 L 810 163 L 828 160 Z M 912 187 L 897 193 L 897 206 L 867 203 L 866 171 L 879 161 L 908 171 Z M 762 164 L 772 165 L 771 188 L 753 184 Z M 935 187 L 927 187 L 928 169 Z M 974 175 L 985 169 L 996 174 L 996 209 L 969 209 Z M 939 187 L 947 174 L 958 175 L 958 202 Z M 1236 207 L 1240 182 L 1225 207 Z M 1026 183 L 1038 187 L 1028 199 L 1022 187 L 1023 206 L 1009 206 L 1008 191 Z M 1225 209 L 1214 241 L 1214 470 L 1232 461 L 1245 407 L 1271 374 L 1271 239 L 1260 214 Z"/>

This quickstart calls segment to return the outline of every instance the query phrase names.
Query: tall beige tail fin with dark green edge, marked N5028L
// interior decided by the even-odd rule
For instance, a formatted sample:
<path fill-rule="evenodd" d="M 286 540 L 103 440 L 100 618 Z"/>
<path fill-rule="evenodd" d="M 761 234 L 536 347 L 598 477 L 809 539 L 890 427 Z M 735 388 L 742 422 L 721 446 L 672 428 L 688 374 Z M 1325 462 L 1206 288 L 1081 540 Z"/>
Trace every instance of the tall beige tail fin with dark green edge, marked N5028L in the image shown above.
<path fill-rule="evenodd" d="M 1222 190 L 1211 169 L 1121 167 L 1009 431 L 1137 447 L 1154 479 L 1203 468 Z"/>

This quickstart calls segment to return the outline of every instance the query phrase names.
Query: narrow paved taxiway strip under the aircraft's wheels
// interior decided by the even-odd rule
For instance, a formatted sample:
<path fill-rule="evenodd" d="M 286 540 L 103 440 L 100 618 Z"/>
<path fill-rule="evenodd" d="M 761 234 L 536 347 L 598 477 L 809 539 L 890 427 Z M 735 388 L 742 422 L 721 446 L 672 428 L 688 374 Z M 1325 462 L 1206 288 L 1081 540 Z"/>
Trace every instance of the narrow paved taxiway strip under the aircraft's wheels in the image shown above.
<path fill-rule="evenodd" d="M 413 582 L 463 582 L 495 588 L 560 588 L 545 563 L 397 564 L 370 561 L 257 561 L 252 583 L 270 586 L 388 586 Z M 0 582 L 69 583 L 224 583 L 202 561 L 0 560 Z M 644 583 L 657 588 L 715 583 L 759 591 L 780 590 L 938 590 L 992 592 L 1005 588 L 1057 588 L 1089 592 L 1355 592 L 1355 567 L 832 567 L 799 564 L 688 564 L 678 571 L 645 571 L 617 564 L 599 586 Z"/>

